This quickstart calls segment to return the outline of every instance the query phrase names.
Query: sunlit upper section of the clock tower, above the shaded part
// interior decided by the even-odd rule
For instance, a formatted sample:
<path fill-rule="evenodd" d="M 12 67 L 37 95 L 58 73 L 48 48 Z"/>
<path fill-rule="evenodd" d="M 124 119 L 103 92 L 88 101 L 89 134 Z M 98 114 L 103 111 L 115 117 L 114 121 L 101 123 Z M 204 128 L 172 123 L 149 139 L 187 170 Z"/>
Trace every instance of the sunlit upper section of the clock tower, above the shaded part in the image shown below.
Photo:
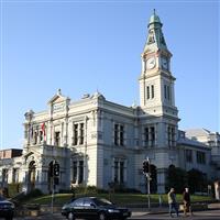
<path fill-rule="evenodd" d="M 175 77 L 170 72 L 172 53 L 167 48 L 162 26 L 154 10 L 147 25 L 146 44 L 141 54 L 140 105 L 147 114 L 168 116 L 177 120 L 174 96 Z"/>

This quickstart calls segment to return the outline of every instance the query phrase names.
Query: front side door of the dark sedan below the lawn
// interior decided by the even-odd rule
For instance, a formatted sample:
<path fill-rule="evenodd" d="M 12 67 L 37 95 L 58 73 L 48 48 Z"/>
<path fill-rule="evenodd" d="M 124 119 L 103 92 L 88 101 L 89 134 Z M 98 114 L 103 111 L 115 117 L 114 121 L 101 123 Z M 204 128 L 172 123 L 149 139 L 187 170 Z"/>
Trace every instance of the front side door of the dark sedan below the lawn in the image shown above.
<path fill-rule="evenodd" d="M 97 206 L 90 198 L 85 198 L 84 200 L 84 218 L 86 219 L 96 219 L 97 218 Z"/>

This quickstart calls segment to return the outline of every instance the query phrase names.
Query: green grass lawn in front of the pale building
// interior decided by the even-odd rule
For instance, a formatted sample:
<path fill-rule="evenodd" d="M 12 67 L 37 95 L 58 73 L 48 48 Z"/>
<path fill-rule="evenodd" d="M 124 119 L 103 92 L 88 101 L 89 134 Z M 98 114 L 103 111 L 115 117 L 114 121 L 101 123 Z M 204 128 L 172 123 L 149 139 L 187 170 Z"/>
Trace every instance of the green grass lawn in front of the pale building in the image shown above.
<path fill-rule="evenodd" d="M 81 197 L 81 196 L 96 196 L 96 197 L 101 197 L 101 198 L 109 198 L 109 194 L 76 194 L 76 197 Z M 167 204 L 167 195 L 161 195 L 162 196 L 162 201 L 163 204 Z M 54 205 L 64 205 L 68 201 L 70 201 L 72 194 L 56 194 L 54 196 Z M 151 195 L 151 202 L 158 202 L 160 195 Z M 144 194 L 114 194 L 111 195 L 111 201 L 113 201 L 117 205 L 130 205 L 130 204 L 146 204 L 147 202 L 147 196 Z M 198 201 L 211 201 L 211 197 L 207 196 L 191 196 L 191 201 L 193 202 L 198 202 Z M 32 198 L 28 200 L 26 202 L 29 204 L 40 204 L 40 205 L 48 205 L 52 201 L 52 196 L 46 195 L 46 196 L 41 196 L 37 198 Z M 177 195 L 177 201 L 183 202 L 183 196 Z"/>

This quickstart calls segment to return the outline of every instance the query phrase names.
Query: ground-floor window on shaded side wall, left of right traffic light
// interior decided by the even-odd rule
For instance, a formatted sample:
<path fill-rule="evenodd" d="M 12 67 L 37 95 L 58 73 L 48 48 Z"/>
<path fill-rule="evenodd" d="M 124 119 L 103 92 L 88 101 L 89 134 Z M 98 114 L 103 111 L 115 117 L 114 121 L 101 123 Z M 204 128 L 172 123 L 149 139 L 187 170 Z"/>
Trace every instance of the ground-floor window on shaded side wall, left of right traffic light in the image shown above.
<path fill-rule="evenodd" d="M 118 184 L 124 184 L 125 175 L 125 161 L 124 160 L 114 160 L 113 166 L 113 182 Z"/>

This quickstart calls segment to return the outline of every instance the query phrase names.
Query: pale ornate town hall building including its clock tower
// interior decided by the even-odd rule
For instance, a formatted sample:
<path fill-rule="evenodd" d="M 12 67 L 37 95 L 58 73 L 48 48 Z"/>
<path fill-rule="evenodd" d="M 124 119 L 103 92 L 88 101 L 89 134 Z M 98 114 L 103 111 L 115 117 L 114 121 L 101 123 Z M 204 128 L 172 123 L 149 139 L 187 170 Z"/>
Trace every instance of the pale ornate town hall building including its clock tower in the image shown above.
<path fill-rule="evenodd" d="M 0 180 L 6 180 L 7 172 L 8 183 L 12 182 L 18 168 L 18 179 L 26 190 L 38 188 L 50 193 L 51 167 L 57 163 L 57 190 L 78 185 L 108 189 L 114 183 L 145 191 L 142 164 L 146 158 L 151 163 L 154 193 L 165 193 L 170 165 L 187 170 L 197 168 L 215 180 L 220 174 L 220 163 L 218 160 L 211 163 L 212 147 L 178 130 L 176 78 L 170 72 L 172 53 L 162 26 L 154 12 L 141 54 L 140 106 L 108 101 L 98 91 L 73 101 L 59 89 L 48 100 L 46 110 L 25 113 L 22 155 L 8 165 L 0 164 Z M 220 140 L 218 133 L 217 136 Z M 215 156 L 220 158 L 220 152 Z"/>

